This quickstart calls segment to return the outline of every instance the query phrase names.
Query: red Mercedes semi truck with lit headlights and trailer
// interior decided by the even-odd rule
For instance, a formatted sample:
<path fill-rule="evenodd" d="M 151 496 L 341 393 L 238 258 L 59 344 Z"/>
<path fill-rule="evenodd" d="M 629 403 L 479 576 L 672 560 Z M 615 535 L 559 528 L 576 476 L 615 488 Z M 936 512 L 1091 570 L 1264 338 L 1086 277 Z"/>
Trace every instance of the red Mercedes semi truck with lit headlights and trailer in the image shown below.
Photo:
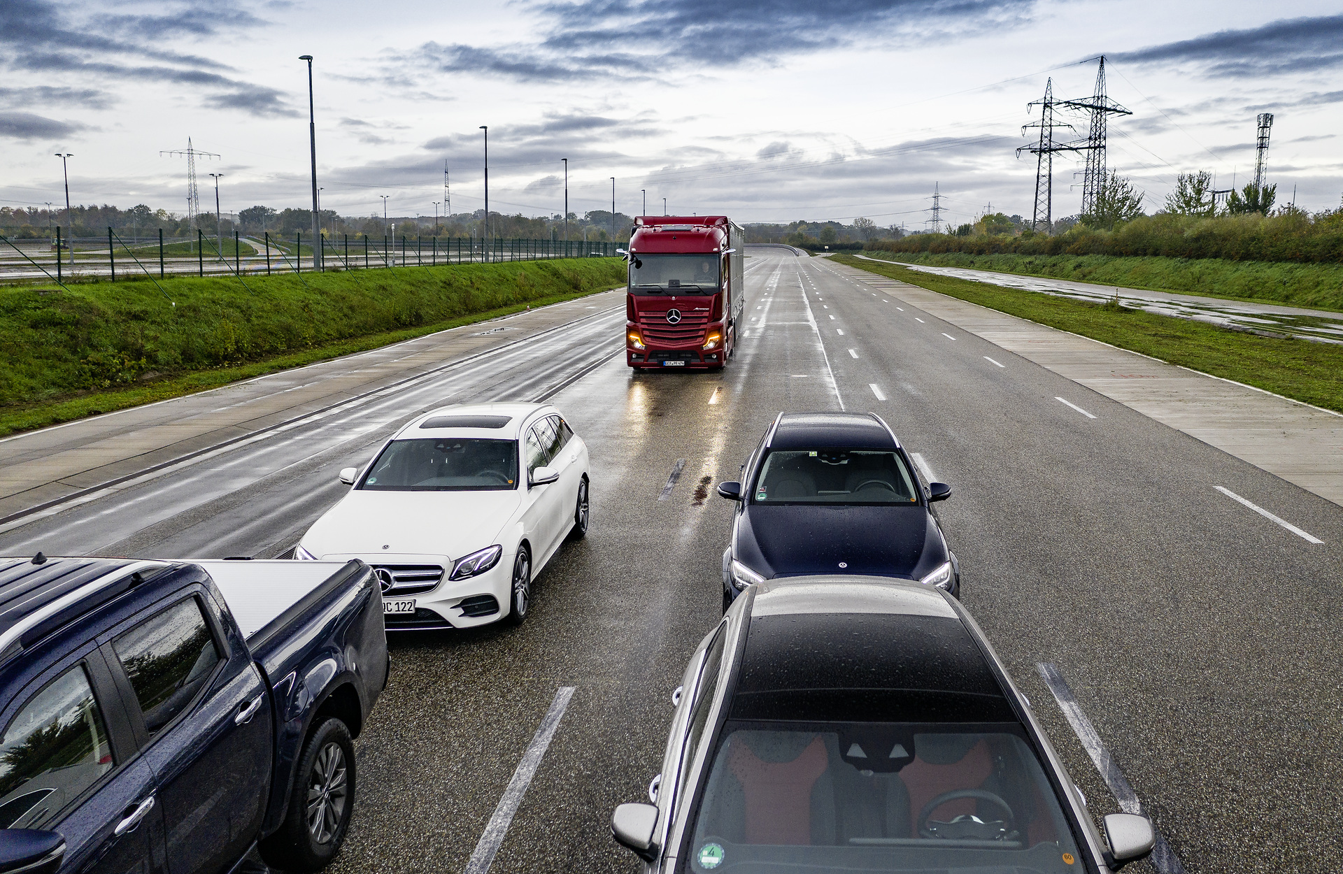
<path fill-rule="evenodd" d="M 624 356 L 633 368 L 719 369 L 745 307 L 745 232 L 727 216 L 634 220 L 624 295 Z"/>

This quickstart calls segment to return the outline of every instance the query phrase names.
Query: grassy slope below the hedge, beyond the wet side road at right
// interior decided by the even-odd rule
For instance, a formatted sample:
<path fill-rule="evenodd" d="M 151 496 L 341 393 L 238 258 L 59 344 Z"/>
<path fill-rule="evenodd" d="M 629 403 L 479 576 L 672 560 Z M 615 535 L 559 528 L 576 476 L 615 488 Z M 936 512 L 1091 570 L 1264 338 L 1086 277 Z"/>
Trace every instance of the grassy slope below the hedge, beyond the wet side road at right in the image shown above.
<path fill-rule="evenodd" d="M 966 252 L 864 252 L 869 258 L 935 267 L 995 270 L 1096 285 L 1201 294 L 1229 301 L 1272 301 L 1343 311 L 1343 264 L 1303 264 L 1221 258 L 1113 255 L 972 255 Z"/>

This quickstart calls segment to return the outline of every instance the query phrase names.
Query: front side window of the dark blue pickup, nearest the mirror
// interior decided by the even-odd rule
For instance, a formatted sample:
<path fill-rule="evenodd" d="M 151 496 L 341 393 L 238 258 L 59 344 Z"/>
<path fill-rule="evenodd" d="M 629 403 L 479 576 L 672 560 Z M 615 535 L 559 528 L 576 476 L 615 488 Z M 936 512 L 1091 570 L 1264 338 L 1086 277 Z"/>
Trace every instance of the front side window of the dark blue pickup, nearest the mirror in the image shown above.
<path fill-rule="evenodd" d="M 0 828 L 31 828 L 111 771 L 111 746 L 83 665 L 28 699 L 0 740 Z"/>

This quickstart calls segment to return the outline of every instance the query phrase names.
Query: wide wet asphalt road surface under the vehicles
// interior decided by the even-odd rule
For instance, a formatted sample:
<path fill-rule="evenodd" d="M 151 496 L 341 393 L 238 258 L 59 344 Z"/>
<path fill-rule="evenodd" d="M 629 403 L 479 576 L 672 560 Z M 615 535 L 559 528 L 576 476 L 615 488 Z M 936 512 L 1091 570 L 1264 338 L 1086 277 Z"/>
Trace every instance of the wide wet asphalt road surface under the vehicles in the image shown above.
<path fill-rule="evenodd" d="M 721 373 L 603 362 L 622 348 L 622 314 L 606 311 L 8 530 L 0 552 L 278 554 L 337 499 L 336 471 L 415 412 L 548 396 L 591 448 L 588 538 L 536 580 L 521 628 L 393 638 L 333 870 L 463 870 L 556 690 L 573 687 L 490 870 L 634 871 L 610 811 L 645 797 L 670 691 L 719 615 L 731 507 L 712 483 L 736 477 L 780 409 L 873 409 L 954 486 L 940 506 L 964 601 L 1097 819 L 1119 804 L 1041 663 L 1070 685 L 1185 870 L 1338 870 L 1343 509 L 855 271 L 751 255 L 748 336 Z"/>

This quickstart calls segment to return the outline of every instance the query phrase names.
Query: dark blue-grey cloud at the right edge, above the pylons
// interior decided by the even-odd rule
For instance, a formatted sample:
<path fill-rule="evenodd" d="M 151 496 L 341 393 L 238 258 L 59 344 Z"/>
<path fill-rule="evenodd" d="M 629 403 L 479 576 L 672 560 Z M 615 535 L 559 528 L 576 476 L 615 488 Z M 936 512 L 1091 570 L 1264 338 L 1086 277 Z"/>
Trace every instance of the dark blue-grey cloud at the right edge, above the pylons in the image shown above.
<path fill-rule="evenodd" d="M 1281 19 L 1262 27 L 1108 55 L 1120 63 L 1194 64 L 1210 77 L 1257 78 L 1343 64 L 1343 15 Z"/>

